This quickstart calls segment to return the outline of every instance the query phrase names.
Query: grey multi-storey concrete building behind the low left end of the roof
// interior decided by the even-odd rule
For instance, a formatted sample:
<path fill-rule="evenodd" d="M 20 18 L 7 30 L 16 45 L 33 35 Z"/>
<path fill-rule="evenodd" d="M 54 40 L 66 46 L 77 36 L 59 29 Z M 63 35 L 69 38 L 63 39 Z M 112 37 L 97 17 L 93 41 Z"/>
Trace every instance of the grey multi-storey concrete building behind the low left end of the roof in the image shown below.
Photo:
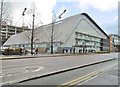
<path fill-rule="evenodd" d="M 17 27 L 6 24 L 2 25 L 2 29 L 1 29 L 2 44 L 4 44 L 10 36 L 21 33 L 25 30 L 29 30 L 29 29 L 27 27 Z"/>

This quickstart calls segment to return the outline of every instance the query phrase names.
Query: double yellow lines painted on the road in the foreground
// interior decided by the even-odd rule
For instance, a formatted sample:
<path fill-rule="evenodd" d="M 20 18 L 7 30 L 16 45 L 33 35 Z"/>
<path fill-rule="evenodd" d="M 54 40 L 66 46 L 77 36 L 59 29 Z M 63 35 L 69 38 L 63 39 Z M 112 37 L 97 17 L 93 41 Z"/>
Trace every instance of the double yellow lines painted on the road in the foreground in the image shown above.
<path fill-rule="evenodd" d="M 96 76 L 96 75 L 98 75 L 98 74 L 100 74 L 100 73 L 101 73 L 100 71 L 91 72 L 91 73 L 89 73 L 89 74 L 87 74 L 87 75 L 84 75 L 84 76 L 82 76 L 82 77 L 79 77 L 79 78 L 77 78 L 77 79 L 74 79 L 74 80 L 72 80 L 72 81 L 70 81 L 70 82 L 64 83 L 64 84 L 62 84 L 62 85 L 59 86 L 59 87 L 69 87 L 69 86 L 71 86 L 71 85 L 76 85 L 76 84 L 78 84 L 78 83 L 82 83 L 82 82 L 84 82 L 84 81 L 86 81 L 86 80 L 88 80 L 88 79 L 90 79 L 90 78 L 92 78 L 92 77 L 94 77 L 94 76 Z"/>

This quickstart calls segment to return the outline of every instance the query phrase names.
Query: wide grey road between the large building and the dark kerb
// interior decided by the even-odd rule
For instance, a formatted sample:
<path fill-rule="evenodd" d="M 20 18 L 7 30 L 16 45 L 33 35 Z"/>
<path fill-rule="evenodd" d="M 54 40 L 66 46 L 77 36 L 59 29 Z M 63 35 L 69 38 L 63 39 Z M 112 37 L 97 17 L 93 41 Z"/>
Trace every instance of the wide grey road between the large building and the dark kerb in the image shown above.
<path fill-rule="evenodd" d="M 2 60 L 2 83 L 16 83 L 63 69 L 118 58 L 118 53 Z"/>

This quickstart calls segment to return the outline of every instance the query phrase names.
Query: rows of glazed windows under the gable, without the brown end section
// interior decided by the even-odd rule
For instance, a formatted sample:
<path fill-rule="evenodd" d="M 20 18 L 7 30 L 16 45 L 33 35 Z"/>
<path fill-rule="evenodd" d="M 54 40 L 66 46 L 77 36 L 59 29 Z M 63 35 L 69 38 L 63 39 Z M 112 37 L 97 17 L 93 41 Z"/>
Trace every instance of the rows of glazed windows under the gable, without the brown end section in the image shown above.
<path fill-rule="evenodd" d="M 94 50 L 94 51 L 100 51 L 100 43 L 101 38 L 91 36 L 88 34 L 75 32 L 76 38 L 75 38 L 75 46 L 79 47 L 79 49 L 85 49 L 85 50 Z"/>

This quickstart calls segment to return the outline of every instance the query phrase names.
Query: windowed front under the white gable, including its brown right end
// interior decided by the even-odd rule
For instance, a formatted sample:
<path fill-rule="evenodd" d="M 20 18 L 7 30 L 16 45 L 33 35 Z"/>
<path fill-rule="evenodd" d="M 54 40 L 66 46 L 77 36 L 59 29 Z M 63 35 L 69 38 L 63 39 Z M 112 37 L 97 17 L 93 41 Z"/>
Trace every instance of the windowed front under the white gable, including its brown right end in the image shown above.
<path fill-rule="evenodd" d="M 109 51 L 109 40 L 88 35 L 85 33 L 76 32 L 76 44 L 75 47 L 78 50 L 84 50 L 85 52 L 91 51 Z"/>

